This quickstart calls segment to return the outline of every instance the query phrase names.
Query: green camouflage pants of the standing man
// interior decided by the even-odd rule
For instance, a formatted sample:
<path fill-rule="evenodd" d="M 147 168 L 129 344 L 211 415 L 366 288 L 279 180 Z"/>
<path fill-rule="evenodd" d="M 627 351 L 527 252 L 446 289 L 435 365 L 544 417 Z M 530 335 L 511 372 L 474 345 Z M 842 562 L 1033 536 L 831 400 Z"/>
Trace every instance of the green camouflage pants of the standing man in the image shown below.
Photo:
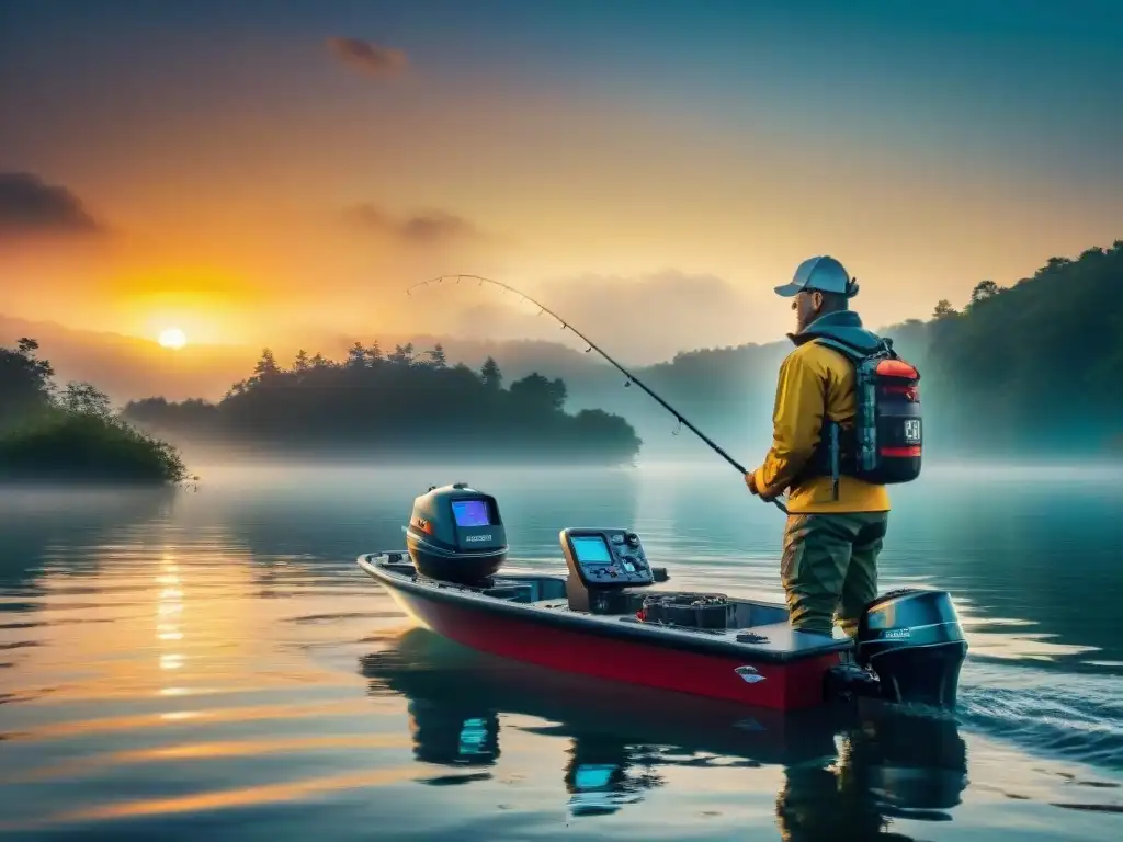
<path fill-rule="evenodd" d="M 888 512 L 789 514 L 780 579 L 792 628 L 830 634 L 837 617 L 853 635 L 862 608 L 877 596 L 877 556 Z"/>

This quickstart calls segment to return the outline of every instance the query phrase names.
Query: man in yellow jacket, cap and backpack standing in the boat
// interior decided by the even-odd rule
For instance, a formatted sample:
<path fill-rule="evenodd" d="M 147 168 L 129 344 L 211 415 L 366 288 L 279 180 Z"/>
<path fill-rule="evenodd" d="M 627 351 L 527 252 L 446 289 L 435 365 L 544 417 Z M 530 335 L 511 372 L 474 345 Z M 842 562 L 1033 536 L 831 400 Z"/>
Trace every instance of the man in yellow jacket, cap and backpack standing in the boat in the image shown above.
<path fill-rule="evenodd" d="M 837 619 L 852 637 L 877 596 L 885 483 L 920 473 L 919 374 L 862 328 L 849 309 L 858 284 L 834 258 L 804 260 L 776 293 L 794 299 L 796 347 L 779 369 L 773 446 L 745 482 L 765 500 L 788 492 L 780 577 L 793 628 L 831 634 Z M 879 406 L 886 391 L 911 411 Z"/>

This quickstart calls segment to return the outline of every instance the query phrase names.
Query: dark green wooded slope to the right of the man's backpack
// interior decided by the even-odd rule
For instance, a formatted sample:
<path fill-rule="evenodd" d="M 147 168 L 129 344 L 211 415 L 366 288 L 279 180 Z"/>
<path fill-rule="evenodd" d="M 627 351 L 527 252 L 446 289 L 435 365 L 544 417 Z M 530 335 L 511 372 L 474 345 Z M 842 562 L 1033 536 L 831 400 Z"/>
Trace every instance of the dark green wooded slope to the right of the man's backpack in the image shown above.
<path fill-rule="evenodd" d="M 1011 289 L 983 282 L 964 314 L 931 326 L 925 401 L 943 445 L 1089 454 L 1123 443 L 1121 289 L 1117 240 L 1053 257 Z"/>

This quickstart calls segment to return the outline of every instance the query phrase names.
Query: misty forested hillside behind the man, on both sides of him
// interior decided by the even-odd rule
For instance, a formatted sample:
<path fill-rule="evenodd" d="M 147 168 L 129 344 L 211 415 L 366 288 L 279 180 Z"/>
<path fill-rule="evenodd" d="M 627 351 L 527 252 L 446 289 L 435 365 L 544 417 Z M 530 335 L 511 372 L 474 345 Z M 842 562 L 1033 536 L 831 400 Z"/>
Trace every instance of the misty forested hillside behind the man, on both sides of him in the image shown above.
<path fill-rule="evenodd" d="M 1123 240 L 1054 257 L 1008 287 L 980 282 L 968 302 L 928 321 L 878 328 L 921 370 L 931 457 L 1043 458 L 1123 452 Z M 861 312 L 861 299 L 855 301 Z M 696 350 L 634 374 L 734 457 L 756 463 L 787 340 Z M 624 415 L 643 451 L 704 456 L 688 432 L 622 377 L 573 381 L 570 404 Z"/>

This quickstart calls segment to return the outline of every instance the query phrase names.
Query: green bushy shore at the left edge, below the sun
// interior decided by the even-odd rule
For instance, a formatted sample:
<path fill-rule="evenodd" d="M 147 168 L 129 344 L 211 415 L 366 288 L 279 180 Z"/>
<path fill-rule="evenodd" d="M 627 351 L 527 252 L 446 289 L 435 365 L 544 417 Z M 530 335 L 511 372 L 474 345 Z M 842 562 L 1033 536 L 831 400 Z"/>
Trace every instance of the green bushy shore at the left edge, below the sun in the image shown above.
<path fill-rule="evenodd" d="M 0 348 L 0 478 L 55 482 L 179 483 L 188 470 L 175 449 L 116 417 L 89 383 L 56 392 L 38 344 Z"/>

